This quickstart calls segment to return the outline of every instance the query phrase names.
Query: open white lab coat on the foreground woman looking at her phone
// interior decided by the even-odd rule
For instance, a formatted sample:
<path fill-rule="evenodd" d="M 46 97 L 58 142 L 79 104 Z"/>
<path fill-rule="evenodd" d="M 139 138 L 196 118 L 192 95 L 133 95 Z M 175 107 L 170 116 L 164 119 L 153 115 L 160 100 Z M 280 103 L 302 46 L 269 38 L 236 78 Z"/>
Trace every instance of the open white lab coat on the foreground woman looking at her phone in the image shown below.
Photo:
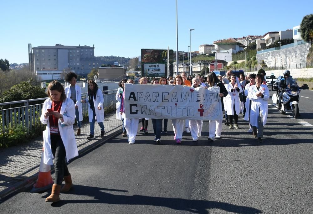
<path fill-rule="evenodd" d="M 52 101 L 50 100 L 50 98 L 46 99 L 40 116 L 40 122 L 42 124 L 47 124 L 46 130 L 43 131 L 44 163 L 47 165 L 53 165 L 52 159 L 54 158 L 51 151 L 49 117 L 47 118 L 44 117 L 44 112 L 47 109 L 50 109 L 51 105 Z M 78 156 L 78 150 L 73 128 L 73 124 L 75 122 L 75 105 L 71 99 L 66 98 L 65 101 L 63 101 L 60 114 L 63 115 L 64 122 L 62 123 L 61 120 L 59 120 L 58 123 L 59 132 L 65 147 L 66 159 L 67 161 L 69 161 L 70 159 Z"/>

